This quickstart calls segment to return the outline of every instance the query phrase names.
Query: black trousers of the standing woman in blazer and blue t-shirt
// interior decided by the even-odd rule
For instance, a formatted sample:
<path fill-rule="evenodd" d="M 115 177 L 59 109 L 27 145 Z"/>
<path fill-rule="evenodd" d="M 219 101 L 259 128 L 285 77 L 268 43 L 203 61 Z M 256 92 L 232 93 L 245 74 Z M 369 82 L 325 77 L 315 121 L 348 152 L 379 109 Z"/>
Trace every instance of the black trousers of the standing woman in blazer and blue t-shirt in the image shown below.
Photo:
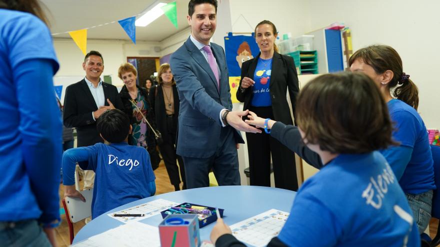
<path fill-rule="evenodd" d="M 250 111 L 262 118 L 273 119 L 272 107 L 251 107 Z M 297 191 L 295 156 L 278 140 L 266 134 L 246 133 L 249 156 L 250 185 L 270 187 L 270 154 L 272 155 L 275 187 Z"/>

